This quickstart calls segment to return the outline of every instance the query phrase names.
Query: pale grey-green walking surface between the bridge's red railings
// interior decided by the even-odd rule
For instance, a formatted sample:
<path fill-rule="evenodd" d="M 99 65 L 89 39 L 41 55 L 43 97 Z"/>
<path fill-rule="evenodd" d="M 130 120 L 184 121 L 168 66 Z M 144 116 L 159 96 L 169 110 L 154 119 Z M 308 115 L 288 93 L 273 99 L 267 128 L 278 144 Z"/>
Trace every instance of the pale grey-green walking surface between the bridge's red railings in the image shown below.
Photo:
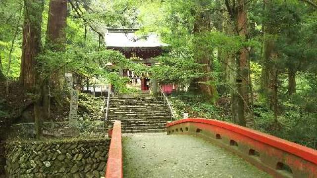
<path fill-rule="evenodd" d="M 195 136 L 123 136 L 124 178 L 271 178 L 238 156 Z"/>

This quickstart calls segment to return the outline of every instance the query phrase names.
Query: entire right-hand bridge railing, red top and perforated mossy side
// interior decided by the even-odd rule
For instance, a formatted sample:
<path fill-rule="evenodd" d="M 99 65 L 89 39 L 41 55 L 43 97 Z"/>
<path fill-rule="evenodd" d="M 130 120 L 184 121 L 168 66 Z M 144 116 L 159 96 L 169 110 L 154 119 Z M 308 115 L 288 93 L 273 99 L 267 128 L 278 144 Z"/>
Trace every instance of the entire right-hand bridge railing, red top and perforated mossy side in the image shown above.
<path fill-rule="evenodd" d="M 217 120 L 183 119 L 166 127 L 167 134 L 207 138 L 275 178 L 317 178 L 317 150 Z"/>

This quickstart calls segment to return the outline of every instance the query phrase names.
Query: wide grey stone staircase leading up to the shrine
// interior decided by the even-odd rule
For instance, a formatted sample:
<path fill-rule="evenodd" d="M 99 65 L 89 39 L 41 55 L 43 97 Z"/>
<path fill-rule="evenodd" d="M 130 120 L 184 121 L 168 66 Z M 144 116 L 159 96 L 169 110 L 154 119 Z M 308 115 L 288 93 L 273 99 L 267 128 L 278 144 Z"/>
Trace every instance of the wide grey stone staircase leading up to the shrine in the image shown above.
<path fill-rule="evenodd" d="M 171 118 L 167 104 L 160 97 L 124 95 L 110 98 L 107 124 L 112 127 L 119 120 L 123 133 L 156 133 L 165 132 Z"/>

